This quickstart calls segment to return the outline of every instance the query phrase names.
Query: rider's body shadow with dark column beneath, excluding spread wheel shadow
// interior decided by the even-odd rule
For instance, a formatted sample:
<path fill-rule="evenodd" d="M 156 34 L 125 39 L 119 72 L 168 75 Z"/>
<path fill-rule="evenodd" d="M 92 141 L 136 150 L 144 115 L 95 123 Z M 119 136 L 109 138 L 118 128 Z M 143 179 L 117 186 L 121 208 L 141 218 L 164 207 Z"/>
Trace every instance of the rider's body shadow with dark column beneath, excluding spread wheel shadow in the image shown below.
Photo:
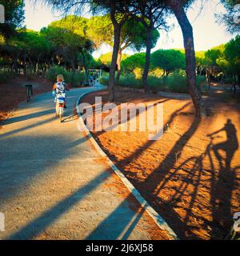
<path fill-rule="evenodd" d="M 231 226 L 232 213 L 231 201 L 233 191 L 236 187 L 236 170 L 231 168 L 231 162 L 235 152 L 238 150 L 237 130 L 230 119 L 227 119 L 222 129 L 215 131 L 210 136 L 226 133 L 226 141 L 219 142 L 212 146 L 214 156 L 218 159 L 219 169 L 212 169 L 211 178 L 211 205 L 213 222 L 220 230 L 225 230 Z M 225 157 L 221 154 L 225 154 Z M 213 166 L 214 167 L 214 166 Z M 211 238 L 218 238 L 213 229 L 210 233 Z"/>

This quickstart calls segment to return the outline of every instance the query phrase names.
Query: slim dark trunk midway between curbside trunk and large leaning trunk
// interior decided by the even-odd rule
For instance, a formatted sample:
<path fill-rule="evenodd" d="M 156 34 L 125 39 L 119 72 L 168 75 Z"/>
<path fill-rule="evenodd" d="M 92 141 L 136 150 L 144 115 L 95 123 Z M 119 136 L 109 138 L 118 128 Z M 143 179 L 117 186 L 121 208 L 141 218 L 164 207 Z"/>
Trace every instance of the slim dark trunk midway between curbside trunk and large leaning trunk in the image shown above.
<path fill-rule="evenodd" d="M 150 26 L 147 29 L 146 57 L 145 57 L 145 66 L 142 74 L 142 84 L 143 84 L 145 93 L 150 91 L 150 88 L 147 83 L 147 77 L 150 69 L 150 54 L 151 54 L 152 46 L 153 46 L 153 26 L 152 24 L 150 24 Z"/>

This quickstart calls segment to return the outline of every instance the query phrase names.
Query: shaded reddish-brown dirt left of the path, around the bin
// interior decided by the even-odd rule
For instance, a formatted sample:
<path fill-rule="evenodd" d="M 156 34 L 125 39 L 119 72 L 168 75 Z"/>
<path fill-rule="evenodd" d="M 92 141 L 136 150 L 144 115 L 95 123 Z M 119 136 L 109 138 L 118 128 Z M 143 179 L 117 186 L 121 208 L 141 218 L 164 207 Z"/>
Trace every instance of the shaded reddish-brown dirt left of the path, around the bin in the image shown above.
<path fill-rule="evenodd" d="M 9 117 L 11 111 L 18 107 L 20 102 L 26 101 L 25 85 L 33 85 L 34 95 L 50 91 L 52 83 L 45 78 L 34 77 L 31 80 L 22 76 L 10 82 L 0 83 L 0 129 L 1 122 Z"/>

